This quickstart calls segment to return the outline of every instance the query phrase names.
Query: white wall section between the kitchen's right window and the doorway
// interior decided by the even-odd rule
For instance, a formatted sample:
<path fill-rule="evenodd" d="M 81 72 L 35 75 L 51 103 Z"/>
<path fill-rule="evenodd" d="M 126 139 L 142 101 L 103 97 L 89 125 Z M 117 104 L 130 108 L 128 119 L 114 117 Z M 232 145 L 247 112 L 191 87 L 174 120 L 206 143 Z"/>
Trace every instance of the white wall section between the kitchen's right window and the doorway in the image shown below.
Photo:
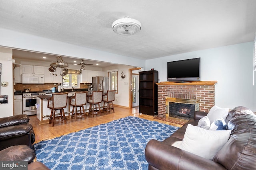
<path fill-rule="evenodd" d="M 118 65 L 104 68 L 104 71 L 118 71 L 118 94 L 116 94 L 116 100 L 113 102 L 113 104 L 129 107 L 129 68 L 133 68 L 133 66 Z M 122 71 L 124 71 L 126 78 L 121 78 Z"/>

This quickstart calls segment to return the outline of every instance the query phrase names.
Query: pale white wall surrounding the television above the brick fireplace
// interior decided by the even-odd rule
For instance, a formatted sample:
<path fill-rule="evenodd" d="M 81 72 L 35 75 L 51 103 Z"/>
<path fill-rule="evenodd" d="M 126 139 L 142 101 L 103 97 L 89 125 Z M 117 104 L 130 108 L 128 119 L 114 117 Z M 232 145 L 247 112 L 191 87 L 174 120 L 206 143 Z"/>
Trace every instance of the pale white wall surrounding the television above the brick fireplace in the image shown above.
<path fill-rule="evenodd" d="M 253 42 L 171 55 L 146 60 L 146 69 L 158 70 L 161 82 L 167 81 L 167 62 L 201 57 L 201 80 L 217 80 L 215 104 L 234 108 L 245 106 L 256 111 L 256 85 L 253 78 Z"/>

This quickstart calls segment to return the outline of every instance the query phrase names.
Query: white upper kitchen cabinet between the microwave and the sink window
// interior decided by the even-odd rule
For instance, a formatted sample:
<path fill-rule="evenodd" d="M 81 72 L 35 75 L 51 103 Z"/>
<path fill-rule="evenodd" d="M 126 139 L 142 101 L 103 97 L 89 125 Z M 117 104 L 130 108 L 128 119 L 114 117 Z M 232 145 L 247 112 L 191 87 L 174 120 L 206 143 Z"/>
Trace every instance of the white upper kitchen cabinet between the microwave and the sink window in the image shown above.
<path fill-rule="evenodd" d="M 49 67 L 44 67 L 44 83 L 62 83 L 62 76 L 60 76 L 60 68 L 56 68 L 56 75 L 53 75 L 52 73 L 55 72 L 50 72 L 48 70 Z"/>

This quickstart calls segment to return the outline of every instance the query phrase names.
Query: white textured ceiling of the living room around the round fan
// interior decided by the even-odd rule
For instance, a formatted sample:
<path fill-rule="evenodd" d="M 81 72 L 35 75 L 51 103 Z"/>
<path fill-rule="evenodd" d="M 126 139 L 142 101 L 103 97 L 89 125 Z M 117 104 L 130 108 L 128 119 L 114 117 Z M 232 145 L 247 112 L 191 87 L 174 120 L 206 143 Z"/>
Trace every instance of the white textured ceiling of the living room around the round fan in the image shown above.
<path fill-rule="evenodd" d="M 256 0 L 0 0 L 0 27 L 138 59 L 253 41 Z M 112 23 L 128 16 L 139 33 Z"/>

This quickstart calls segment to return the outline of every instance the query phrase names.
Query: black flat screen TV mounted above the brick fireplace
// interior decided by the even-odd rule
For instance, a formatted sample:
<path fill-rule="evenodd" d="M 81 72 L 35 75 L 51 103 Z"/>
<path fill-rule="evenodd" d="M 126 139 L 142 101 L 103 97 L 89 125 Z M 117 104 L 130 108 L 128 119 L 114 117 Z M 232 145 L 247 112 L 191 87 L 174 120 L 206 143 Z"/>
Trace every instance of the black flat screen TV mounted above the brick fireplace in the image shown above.
<path fill-rule="evenodd" d="M 167 63 L 168 82 L 187 82 L 200 80 L 200 58 Z"/>

